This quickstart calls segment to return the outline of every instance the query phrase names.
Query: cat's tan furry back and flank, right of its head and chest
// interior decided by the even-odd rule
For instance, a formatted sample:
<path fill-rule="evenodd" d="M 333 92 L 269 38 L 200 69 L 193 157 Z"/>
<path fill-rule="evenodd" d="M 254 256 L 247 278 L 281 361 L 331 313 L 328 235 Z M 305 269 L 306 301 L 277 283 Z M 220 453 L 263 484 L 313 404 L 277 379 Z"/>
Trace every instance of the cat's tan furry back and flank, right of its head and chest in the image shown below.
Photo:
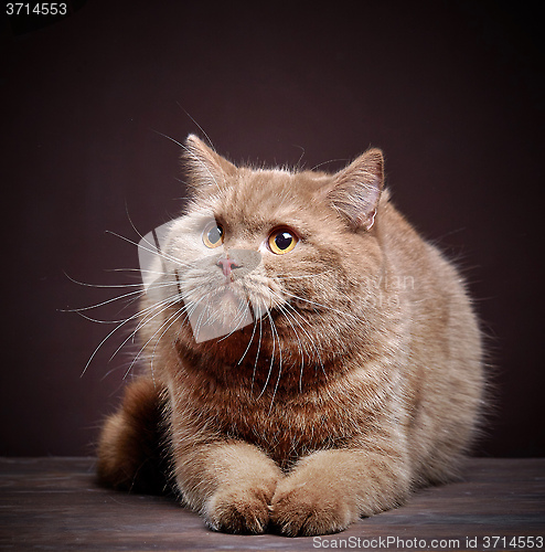
<path fill-rule="evenodd" d="M 387 200 L 387 198 L 386 198 Z M 424 480 L 456 473 L 483 406 L 483 350 L 460 270 L 389 203 L 378 240 L 395 279 L 408 354 L 402 371 L 410 412 L 410 452 Z"/>

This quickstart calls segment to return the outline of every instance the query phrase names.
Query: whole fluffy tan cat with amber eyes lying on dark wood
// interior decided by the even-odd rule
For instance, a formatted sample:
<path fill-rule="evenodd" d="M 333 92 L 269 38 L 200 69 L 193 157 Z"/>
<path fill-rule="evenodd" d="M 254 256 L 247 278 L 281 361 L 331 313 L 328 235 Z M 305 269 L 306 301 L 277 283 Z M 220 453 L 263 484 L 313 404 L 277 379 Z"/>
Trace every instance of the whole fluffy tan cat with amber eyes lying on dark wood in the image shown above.
<path fill-rule="evenodd" d="M 171 484 L 213 530 L 296 537 L 457 476 L 481 332 L 460 274 L 392 203 L 382 151 L 267 170 L 190 135 L 183 160 L 184 214 L 140 243 L 146 369 L 105 422 L 100 480 Z"/>

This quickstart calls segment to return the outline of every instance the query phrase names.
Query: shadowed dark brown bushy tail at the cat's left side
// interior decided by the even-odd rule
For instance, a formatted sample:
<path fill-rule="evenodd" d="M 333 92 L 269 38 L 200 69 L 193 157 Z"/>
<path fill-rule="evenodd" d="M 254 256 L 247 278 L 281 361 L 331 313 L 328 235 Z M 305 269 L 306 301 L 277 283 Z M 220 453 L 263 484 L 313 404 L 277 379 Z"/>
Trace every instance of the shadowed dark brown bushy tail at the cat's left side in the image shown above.
<path fill-rule="evenodd" d="M 121 407 L 106 418 L 97 475 L 117 489 L 164 492 L 169 479 L 164 393 L 148 378 L 127 385 Z"/>

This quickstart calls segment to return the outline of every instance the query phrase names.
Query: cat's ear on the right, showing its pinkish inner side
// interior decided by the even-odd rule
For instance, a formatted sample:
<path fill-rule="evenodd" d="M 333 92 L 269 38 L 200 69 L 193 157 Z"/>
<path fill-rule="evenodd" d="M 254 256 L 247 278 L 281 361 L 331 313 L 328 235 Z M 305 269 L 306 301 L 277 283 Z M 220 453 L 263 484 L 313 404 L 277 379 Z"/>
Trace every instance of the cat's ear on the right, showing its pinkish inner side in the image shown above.
<path fill-rule="evenodd" d="M 384 158 L 370 149 L 333 176 L 328 199 L 353 230 L 370 230 L 384 185 Z"/>

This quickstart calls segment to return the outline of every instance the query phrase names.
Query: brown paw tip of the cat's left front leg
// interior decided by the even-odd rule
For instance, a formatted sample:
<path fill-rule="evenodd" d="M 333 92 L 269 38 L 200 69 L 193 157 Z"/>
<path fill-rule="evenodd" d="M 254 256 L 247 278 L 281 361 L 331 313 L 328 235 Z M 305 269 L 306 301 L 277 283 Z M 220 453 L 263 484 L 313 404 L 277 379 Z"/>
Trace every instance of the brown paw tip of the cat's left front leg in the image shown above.
<path fill-rule="evenodd" d="M 211 529 L 227 533 L 259 534 L 269 522 L 274 487 L 229 486 L 206 502 L 205 519 Z"/>

